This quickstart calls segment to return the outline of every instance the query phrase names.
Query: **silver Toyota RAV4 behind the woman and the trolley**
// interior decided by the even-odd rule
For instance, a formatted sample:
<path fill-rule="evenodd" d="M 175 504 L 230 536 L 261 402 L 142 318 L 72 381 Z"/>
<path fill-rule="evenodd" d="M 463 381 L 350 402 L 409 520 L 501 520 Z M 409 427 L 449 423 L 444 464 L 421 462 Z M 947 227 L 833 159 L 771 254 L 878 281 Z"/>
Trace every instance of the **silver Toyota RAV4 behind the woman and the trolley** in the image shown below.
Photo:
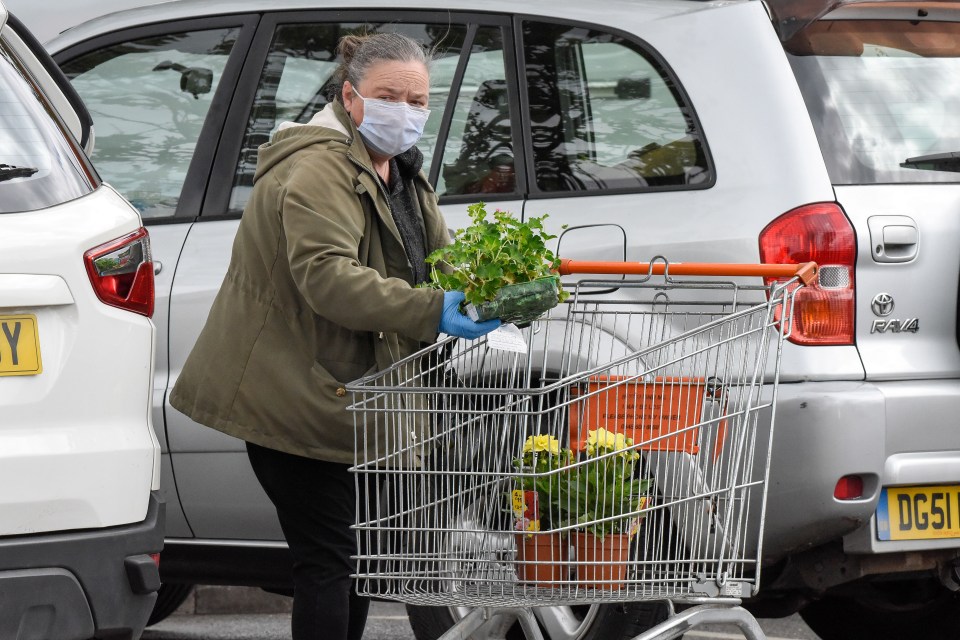
<path fill-rule="evenodd" d="M 815 5 L 185 0 L 52 41 L 93 112 L 94 161 L 140 209 L 159 270 L 156 616 L 193 583 L 289 587 L 242 443 L 166 396 L 226 270 L 258 145 L 330 99 L 338 38 L 374 27 L 437 50 L 421 148 L 451 227 L 485 200 L 577 227 L 565 257 L 822 266 L 783 357 L 748 605 L 799 610 L 826 640 L 956 638 L 960 6 Z M 619 637 L 648 609 L 538 615 L 553 638 Z M 412 608 L 411 621 L 431 638 L 462 614 Z"/>

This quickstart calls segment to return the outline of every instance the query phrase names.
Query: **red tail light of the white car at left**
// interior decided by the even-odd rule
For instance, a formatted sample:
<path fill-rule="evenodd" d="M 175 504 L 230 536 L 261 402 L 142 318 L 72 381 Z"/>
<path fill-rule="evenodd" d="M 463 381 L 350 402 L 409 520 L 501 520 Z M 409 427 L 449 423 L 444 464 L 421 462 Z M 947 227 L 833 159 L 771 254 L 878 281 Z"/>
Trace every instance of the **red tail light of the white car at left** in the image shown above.
<path fill-rule="evenodd" d="M 104 304 L 153 316 L 150 236 L 140 228 L 83 254 L 93 290 Z"/>

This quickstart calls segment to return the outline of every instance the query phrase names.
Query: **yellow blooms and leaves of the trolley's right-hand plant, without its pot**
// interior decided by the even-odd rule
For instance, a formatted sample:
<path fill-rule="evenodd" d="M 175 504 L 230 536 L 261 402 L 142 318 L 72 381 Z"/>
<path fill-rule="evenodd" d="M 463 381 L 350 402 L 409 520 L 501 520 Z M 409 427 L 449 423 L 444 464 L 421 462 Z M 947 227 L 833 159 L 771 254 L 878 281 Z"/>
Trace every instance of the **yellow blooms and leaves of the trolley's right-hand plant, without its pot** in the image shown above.
<path fill-rule="evenodd" d="M 646 504 L 650 481 L 636 477 L 640 458 L 633 440 L 606 429 L 591 430 L 584 461 L 570 474 L 566 491 L 570 524 L 599 538 L 630 533 Z M 617 516 L 623 517 L 617 517 Z"/>

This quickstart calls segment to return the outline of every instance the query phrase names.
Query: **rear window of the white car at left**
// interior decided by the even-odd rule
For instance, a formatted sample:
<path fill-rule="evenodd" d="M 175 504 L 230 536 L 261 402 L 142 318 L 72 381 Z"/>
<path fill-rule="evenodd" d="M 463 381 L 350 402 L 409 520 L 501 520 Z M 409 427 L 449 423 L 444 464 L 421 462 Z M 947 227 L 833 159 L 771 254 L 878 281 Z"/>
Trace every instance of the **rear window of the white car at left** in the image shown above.
<path fill-rule="evenodd" d="M 93 190 L 53 113 L 0 43 L 0 213 L 44 209 Z"/>

